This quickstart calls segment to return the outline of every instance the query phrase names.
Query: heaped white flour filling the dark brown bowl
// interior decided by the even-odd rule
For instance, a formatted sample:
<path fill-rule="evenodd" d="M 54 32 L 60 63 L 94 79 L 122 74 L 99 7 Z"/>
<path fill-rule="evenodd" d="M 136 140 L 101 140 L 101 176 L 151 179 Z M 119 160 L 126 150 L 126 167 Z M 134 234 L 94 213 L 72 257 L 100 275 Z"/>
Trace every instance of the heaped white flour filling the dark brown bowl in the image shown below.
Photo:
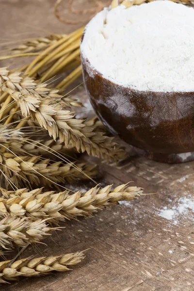
<path fill-rule="evenodd" d="M 103 77 L 140 91 L 194 91 L 194 9 L 168 0 L 105 8 L 81 52 Z"/>

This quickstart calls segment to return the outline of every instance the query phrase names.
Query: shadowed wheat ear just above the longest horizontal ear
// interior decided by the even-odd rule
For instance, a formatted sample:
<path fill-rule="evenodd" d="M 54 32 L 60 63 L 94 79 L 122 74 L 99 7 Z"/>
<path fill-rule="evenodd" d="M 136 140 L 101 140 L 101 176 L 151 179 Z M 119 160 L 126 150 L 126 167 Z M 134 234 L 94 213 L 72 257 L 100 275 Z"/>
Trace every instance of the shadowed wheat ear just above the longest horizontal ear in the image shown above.
<path fill-rule="evenodd" d="M 65 183 L 65 181 L 73 182 L 77 179 L 94 178 L 97 175 L 97 166 L 88 166 L 78 162 L 63 164 L 36 156 L 16 156 L 12 153 L 0 155 L 0 170 L 16 187 L 19 187 L 24 181 L 51 187 L 54 184 Z M 1 174 L 1 179 L 4 179 L 8 186 L 4 175 Z"/>

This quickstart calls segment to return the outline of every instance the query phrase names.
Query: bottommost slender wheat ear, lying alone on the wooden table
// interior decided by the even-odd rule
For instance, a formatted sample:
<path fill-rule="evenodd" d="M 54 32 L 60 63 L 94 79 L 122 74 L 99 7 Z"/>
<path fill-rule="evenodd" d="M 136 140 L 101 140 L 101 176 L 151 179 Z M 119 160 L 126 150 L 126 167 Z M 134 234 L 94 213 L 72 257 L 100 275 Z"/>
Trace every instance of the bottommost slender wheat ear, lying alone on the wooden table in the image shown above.
<path fill-rule="evenodd" d="M 79 264 L 85 258 L 83 252 L 76 252 L 53 257 L 25 258 L 15 261 L 9 266 L 10 261 L 0 262 L 0 283 L 6 280 L 16 280 L 20 276 L 32 277 L 48 275 L 53 271 L 69 271 L 68 267 Z"/>

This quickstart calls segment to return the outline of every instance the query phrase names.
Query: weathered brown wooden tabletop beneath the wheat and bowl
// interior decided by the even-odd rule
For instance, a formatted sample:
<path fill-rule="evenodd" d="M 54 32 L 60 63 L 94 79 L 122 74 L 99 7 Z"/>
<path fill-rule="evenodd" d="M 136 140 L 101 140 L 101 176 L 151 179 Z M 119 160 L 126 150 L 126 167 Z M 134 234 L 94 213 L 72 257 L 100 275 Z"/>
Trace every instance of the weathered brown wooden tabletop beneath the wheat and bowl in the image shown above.
<path fill-rule="evenodd" d="M 35 27 L 55 33 L 71 31 L 72 26 L 55 19 L 53 4 L 53 0 L 0 0 L 1 38 L 16 38 L 14 34 L 20 32 L 20 38 L 32 32 L 44 35 Z M 16 67 L 21 60 L 10 63 Z M 81 86 L 74 94 L 85 98 Z M 23 256 L 59 255 L 92 247 L 86 259 L 72 272 L 24 278 L 0 286 L 0 291 L 193 291 L 192 216 L 182 215 L 174 225 L 158 216 L 158 209 L 170 209 L 178 198 L 193 195 L 194 162 L 168 165 L 131 157 L 124 165 L 108 166 L 95 161 L 100 164 L 102 183 L 118 185 L 133 180 L 132 184 L 144 187 L 146 193 L 159 194 L 129 205 L 114 205 L 80 222 L 65 222 L 66 228 L 47 239 L 47 245 L 31 246 Z"/>

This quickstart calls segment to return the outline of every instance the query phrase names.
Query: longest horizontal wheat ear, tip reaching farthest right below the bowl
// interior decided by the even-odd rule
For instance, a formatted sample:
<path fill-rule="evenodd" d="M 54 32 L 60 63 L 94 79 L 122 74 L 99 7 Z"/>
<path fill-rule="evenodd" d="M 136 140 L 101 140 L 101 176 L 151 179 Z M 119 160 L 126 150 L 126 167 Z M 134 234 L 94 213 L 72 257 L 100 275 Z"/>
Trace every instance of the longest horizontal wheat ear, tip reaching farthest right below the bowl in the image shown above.
<path fill-rule="evenodd" d="M 95 187 L 86 193 L 81 191 L 69 195 L 68 191 L 42 193 L 41 189 L 19 189 L 7 191 L 1 188 L 0 215 L 9 214 L 19 217 L 27 216 L 33 220 L 49 218 L 49 222 L 58 224 L 60 220 L 77 219 L 78 216 L 91 216 L 93 212 L 119 201 L 134 200 L 143 194 L 143 189 L 127 184 L 112 189 L 108 185 L 102 189 Z"/>

